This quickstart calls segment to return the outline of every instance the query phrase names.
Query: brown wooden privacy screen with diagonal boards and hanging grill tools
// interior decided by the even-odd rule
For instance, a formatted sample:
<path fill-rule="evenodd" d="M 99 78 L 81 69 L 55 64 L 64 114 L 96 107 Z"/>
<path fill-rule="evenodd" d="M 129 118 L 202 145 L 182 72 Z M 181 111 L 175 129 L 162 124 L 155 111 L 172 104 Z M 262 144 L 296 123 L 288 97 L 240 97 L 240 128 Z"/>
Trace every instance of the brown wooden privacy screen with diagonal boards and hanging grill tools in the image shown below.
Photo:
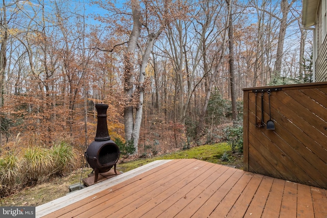
<path fill-rule="evenodd" d="M 269 120 L 268 90 L 275 130 L 261 127 Z M 327 83 L 243 91 L 244 170 L 327 188 Z"/>

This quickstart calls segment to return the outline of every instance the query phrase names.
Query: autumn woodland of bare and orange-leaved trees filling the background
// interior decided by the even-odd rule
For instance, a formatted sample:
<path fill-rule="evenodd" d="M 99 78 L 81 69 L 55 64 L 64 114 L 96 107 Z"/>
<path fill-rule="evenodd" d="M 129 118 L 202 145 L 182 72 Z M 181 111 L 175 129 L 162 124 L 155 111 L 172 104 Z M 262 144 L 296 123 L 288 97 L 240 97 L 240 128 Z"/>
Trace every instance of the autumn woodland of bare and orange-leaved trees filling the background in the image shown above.
<path fill-rule="evenodd" d="M 206 143 L 242 119 L 242 88 L 311 82 L 300 0 L 0 7 L 1 149 L 19 134 L 21 147 L 66 140 L 83 151 L 97 103 L 109 105 L 110 136 L 140 155 Z"/>

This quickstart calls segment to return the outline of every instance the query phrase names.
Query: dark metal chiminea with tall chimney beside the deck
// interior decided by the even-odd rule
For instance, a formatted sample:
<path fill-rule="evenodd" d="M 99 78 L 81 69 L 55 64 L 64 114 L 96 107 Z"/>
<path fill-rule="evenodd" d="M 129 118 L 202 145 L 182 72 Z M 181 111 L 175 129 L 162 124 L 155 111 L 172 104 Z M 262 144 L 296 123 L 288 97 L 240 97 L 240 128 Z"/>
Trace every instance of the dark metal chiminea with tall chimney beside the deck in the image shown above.
<path fill-rule="evenodd" d="M 90 143 L 86 152 L 85 159 L 90 167 L 94 169 L 94 182 L 98 181 L 99 173 L 108 172 L 112 166 L 116 172 L 116 163 L 118 162 L 120 151 L 118 146 L 110 139 L 107 126 L 107 109 L 106 104 L 96 104 L 98 111 L 98 126 L 94 141 Z"/>

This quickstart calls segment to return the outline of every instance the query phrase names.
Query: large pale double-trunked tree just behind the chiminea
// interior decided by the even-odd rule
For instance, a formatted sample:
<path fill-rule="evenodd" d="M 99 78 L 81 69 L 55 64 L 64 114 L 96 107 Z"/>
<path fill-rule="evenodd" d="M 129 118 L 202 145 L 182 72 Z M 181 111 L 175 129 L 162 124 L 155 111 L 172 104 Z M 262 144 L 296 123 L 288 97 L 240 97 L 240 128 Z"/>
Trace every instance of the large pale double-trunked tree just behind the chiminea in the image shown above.
<path fill-rule="evenodd" d="M 157 3 L 158 4 L 158 3 Z M 170 23 L 174 17 L 180 16 L 182 10 L 173 15 L 174 4 L 169 1 L 164 1 L 162 5 L 152 4 L 151 1 L 145 1 L 146 11 L 143 14 L 141 11 L 141 5 L 138 0 L 131 0 L 131 9 L 133 16 L 133 28 L 129 36 L 127 50 L 124 56 L 124 92 L 127 99 L 127 104 L 124 109 L 124 124 L 125 124 L 125 139 L 133 140 L 135 153 L 138 152 L 138 139 L 141 129 L 142 114 L 143 114 L 143 102 L 144 102 L 144 89 L 145 89 L 145 76 L 148 60 L 154 45 L 155 40 L 161 34 L 162 30 L 166 28 L 166 25 Z M 173 10 L 172 10 L 173 9 Z M 153 28 L 151 22 L 152 17 L 159 19 L 160 22 L 158 28 Z M 141 43 L 138 39 L 141 35 L 142 27 L 146 28 L 147 39 L 144 45 L 145 49 L 142 49 Z M 151 27 L 156 30 L 151 30 Z M 136 90 L 134 80 L 134 57 L 136 55 L 136 47 L 141 51 L 141 63 L 139 67 L 138 80 L 136 82 Z M 136 98 L 135 98 L 136 97 Z M 133 102 L 135 101 L 135 102 Z M 135 120 L 133 118 L 133 108 L 136 109 Z"/>

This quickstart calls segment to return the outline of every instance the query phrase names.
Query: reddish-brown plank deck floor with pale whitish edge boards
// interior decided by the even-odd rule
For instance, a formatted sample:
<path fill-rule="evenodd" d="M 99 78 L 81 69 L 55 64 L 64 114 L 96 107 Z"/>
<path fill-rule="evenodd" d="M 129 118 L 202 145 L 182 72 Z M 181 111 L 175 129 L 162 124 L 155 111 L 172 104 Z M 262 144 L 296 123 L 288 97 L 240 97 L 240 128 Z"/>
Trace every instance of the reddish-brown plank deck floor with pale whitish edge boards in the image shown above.
<path fill-rule="evenodd" d="M 159 160 L 40 205 L 36 217 L 327 217 L 326 195 L 201 160 Z"/>

